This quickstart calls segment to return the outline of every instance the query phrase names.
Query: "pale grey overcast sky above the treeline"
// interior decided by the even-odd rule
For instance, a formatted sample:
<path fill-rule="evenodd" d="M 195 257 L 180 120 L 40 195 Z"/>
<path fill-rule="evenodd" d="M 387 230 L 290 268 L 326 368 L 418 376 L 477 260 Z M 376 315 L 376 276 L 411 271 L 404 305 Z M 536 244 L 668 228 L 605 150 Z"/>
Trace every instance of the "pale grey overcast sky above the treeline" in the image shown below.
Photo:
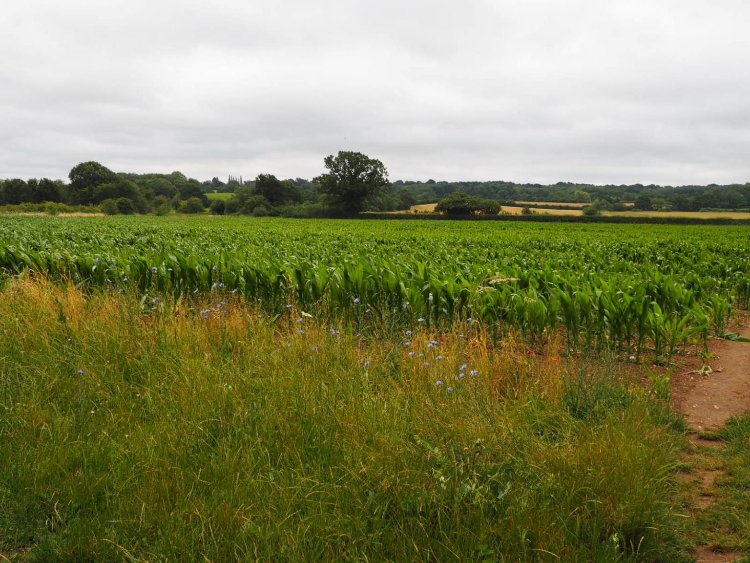
<path fill-rule="evenodd" d="M 0 178 L 750 181 L 748 0 L 23 0 Z"/>

